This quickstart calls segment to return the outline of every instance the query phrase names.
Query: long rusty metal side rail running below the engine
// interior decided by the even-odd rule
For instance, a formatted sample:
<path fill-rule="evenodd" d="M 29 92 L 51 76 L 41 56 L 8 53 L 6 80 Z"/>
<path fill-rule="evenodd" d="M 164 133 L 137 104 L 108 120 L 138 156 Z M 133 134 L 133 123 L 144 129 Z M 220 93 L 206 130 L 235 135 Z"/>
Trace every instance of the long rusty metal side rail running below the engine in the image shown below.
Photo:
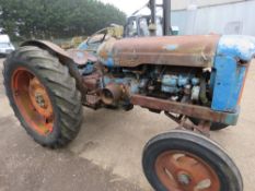
<path fill-rule="evenodd" d="M 138 105 L 149 109 L 155 109 L 160 111 L 167 111 L 174 114 L 181 114 L 188 117 L 194 117 L 202 120 L 222 122 L 228 121 L 229 115 L 227 112 L 217 112 L 207 107 L 182 104 L 160 98 L 147 97 L 141 95 L 132 95 L 131 104 Z M 236 123 L 237 117 L 232 123 Z"/>

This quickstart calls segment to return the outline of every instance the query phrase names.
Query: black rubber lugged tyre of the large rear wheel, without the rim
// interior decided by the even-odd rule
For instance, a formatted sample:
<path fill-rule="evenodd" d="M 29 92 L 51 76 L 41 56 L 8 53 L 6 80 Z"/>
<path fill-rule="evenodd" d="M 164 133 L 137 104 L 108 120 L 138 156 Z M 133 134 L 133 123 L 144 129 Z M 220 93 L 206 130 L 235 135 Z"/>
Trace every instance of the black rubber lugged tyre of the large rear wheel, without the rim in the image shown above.
<path fill-rule="evenodd" d="M 18 119 L 20 119 L 21 116 L 19 111 L 15 111 L 15 104 L 11 102 L 11 87 L 7 85 L 10 84 L 10 77 L 8 76 L 9 65 L 14 64 L 15 60 L 26 60 L 31 68 L 38 71 L 40 76 L 47 82 L 46 86 L 57 103 L 56 110 L 59 115 L 58 126 L 60 128 L 58 138 L 50 143 L 43 143 L 34 138 L 35 141 L 50 148 L 58 148 L 67 145 L 77 136 L 82 121 L 81 93 L 77 89 L 76 80 L 70 75 L 68 68 L 60 63 L 58 58 L 54 57 L 48 51 L 33 46 L 19 48 L 10 55 L 3 64 L 4 86 L 10 105 Z M 22 120 L 21 123 L 23 123 Z M 26 128 L 24 129 L 33 136 L 30 130 Z"/>

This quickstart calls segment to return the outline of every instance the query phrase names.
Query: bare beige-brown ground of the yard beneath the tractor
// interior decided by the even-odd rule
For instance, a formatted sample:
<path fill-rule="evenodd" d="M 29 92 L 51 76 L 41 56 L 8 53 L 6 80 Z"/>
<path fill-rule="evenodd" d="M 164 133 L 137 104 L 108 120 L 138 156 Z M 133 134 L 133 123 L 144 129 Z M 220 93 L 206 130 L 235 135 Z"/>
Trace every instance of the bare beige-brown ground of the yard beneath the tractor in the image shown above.
<path fill-rule="evenodd" d="M 0 69 L 2 63 L 0 61 Z M 245 191 L 255 186 L 255 63 L 248 74 L 239 124 L 212 133 L 236 162 Z M 152 136 L 174 129 L 164 115 L 84 108 L 81 132 L 67 148 L 43 148 L 26 135 L 4 96 L 0 75 L 0 191 L 151 191 L 141 153 Z"/>

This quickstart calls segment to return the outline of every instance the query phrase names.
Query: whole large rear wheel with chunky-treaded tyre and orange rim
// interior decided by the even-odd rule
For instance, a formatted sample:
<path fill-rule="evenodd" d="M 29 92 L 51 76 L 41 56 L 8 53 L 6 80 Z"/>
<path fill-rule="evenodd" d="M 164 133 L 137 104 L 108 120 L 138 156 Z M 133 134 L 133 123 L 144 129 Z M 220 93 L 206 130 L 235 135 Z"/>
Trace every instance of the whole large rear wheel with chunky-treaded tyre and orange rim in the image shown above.
<path fill-rule="evenodd" d="M 21 47 L 4 61 L 3 77 L 16 118 L 37 143 L 56 148 L 77 136 L 81 94 L 58 58 L 37 47 Z"/>

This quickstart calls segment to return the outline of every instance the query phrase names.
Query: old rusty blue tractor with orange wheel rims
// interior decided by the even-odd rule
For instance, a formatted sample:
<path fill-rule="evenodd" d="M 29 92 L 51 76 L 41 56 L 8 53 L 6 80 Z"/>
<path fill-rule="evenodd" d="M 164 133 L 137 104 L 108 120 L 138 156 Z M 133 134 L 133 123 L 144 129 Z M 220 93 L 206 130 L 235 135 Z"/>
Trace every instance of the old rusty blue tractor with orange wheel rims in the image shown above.
<path fill-rule="evenodd" d="M 3 76 L 16 118 L 45 147 L 63 147 L 77 136 L 82 106 L 140 106 L 178 124 L 152 138 L 142 153 L 157 191 L 242 191 L 236 165 L 209 136 L 237 123 L 254 57 L 251 36 L 103 35 L 93 53 L 28 40 L 7 58 Z"/>

